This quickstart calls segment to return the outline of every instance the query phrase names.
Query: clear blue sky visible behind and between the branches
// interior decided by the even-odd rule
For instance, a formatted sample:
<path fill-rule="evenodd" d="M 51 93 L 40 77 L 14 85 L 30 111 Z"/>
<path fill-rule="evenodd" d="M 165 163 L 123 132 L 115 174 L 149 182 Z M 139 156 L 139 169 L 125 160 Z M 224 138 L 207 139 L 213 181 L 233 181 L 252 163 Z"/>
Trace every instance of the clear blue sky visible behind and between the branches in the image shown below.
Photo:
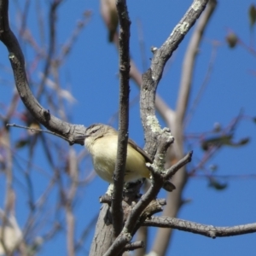
<path fill-rule="evenodd" d="M 21 5 L 22 1 L 20 1 Z M 131 56 L 137 67 L 143 72 L 142 54 L 138 41 L 138 22 L 143 31 L 145 44 L 145 55 L 147 57 L 147 68 L 151 57 L 151 46 L 160 47 L 176 26 L 178 20 L 183 17 L 189 8 L 191 1 L 127 1 L 131 17 Z M 250 30 L 247 16 L 247 9 L 250 1 L 238 0 L 236 3 L 231 0 L 219 1 L 218 7 L 212 16 L 205 37 L 201 43 L 198 59 L 195 66 L 195 75 L 190 97 L 191 102 L 200 89 L 206 76 L 207 67 L 212 54 L 212 41 L 218 41 L 216 59 L 207 84 L 207 89 L 196 108 L 193 119 L 186 127 L 187 133 L 212 130 L 215 122 L 225 126 L 230 120 L 243 109 L 247 116 L 255 116 L 256 85 L 254 70 L 255 59 L 247 50 L 236 47 L 230 49 L 224 41 L 227 31 L 233 30 L 246 43 L 250 42 Z M 33 6 L 33 5 L 32 5 Z M 42 7 L 45 9 L 47 3 Z M 17 16 L 15 5 L 10 1 L 11 24 L 15 26 Z M 78 42 L 75 44 L 71 55 L 67 58 L 67 64 L 62 68 L 60 77 L 64 88 L 71 90 L 77 102 L 68 107 L 72 116 L 71 121 L 75 124 L 90 125 L 95 122 L 108 123 L 113 113 L 118 110 L 119 102 L 119 80 L 118 80 L 118 55 L 112 44 L 107 42 L 107 31 L 99 14 L 99 1 L 64 1 L 58 17 L 58 44 L 62 45 L 67 41 L 75 23 L 81 17 L 83 10 L 90 9 L 92 16 L 89 24 L 84 28 Z M 38 38 L 37 26 L 34 24 L 35 16 L 31 8 L 28 24 L 32 33 Z M 46 9 L 45 9 L 46 11 Z M 15 30 L 15 29 L 14 29 Z M 189 42 L 191 32 L 178 47 L 172 60 L 166 65 L 163 79 L 159 84 L 159 94 L 165 101 L 174 108 L 176 105 L 177 90 L 180 82 L 183 55 Z M 254 41 L 255 41 L 255 37 Z M 34 55 L 30 49 L 25 47 L 27 61 L 32 61 Z M 1 65 L 9 67 L 9 60 L 6 49 L 0 47 Z M 38 76 L 38 73 L 33 73 Z M 1 78 L 11 80 L 1 70 Z M 8 102 L 13 92 L 13 84 L 1 85 L 0 101 Z M 131 99 L 135 98 L 139 90 L 131 82 Z M 21 106 L 21 103 L 20 103 Z M 21 108 L 21 107 L 20 107 Z M 161 125 L 165 125 L 160 120 Z M 117 120 L 113 123 L 116 127 Z M 244 119 L 238 125 L 236 139 L 251 137 L 250 143 L 242 148 L 222 148 L 217 155 L 209 162 L 218 165 L 218 175 L 247 175 L 255 174 L 255 124 L 250 119 Z M 143 129 L 139 117 L 139 103 L 131 108 L 130 113 L 130 137 L 139 145 L 143 146 Z M 19 137 L 22 131 L 15 131 Z M 67 146 L 67 143 L 63 143 Z M 77 150 L 81 147 L 75 146 Z M 194 163 L 202 156 L 202 151 L 195 145 Z M 38 165 L 40 165 L 40 157 Z M 43 163 L 42 163 L 43 164 Z M 86 165 L 90 167 L 90 164 Z M 84 164 L 84 168 L 86 167 Z M 3 177 L 0 177 L 3 179 Z M 0 181 L 3 183 L 3 181 Z M 38 181 L 39 182 L 39 181 Z M 236 224 L 248 224 L 255 222 L 256 200 L 255 179 L 237 178 L 228 181 L 229 186 L 224 191 L 216 191 L 207 185 L 207 181 L 201 178 L 191 178 L 184 189 L 183 198 L 191 199 L 191 202 L 182 207 L 179 218 L 195 221 L 201 224 L 212 224 L 216 226 L 229 226 Z M 81 227 L 85 227 L 95 217 L 101 207 L 98 197 L 107 189 L 108 184 L 96 177 L 92 183 L 83 189 L 79 196 L 82 201 L 76 207 L 77 234 Z M 164 196 L 162 191 L 160 196 Z M 1 200 L 3 197 L 1 196 Z M 3 204 L 3 202 L 1 203 Z M 22 206 L 20 204 L 20 215 Z M 25 210 L 24 210 L 25 211 Z M 24 219 L 19 217 L 20 225 Z M 86 240 L 85 250 L 89 250 L 93 231 Z M 217 238 L 212 240 L 199 235 L 175 231 L 172 239 L 170 252 L 172 255 L 254 255 L 255 234 L 236 236 L 228 238 Z M 150 229 L 150 239 L 154 239 L 154 229 Z M 58 253 L 65 254 L 63 247 L 65 237 L 56 236 L 53 241 L 45 245 L 38 255 L 50 255 Z M 150 244 L 150 242 L 149 242 Z M 78 253 L 83 255 L 83 253 Z"/>

